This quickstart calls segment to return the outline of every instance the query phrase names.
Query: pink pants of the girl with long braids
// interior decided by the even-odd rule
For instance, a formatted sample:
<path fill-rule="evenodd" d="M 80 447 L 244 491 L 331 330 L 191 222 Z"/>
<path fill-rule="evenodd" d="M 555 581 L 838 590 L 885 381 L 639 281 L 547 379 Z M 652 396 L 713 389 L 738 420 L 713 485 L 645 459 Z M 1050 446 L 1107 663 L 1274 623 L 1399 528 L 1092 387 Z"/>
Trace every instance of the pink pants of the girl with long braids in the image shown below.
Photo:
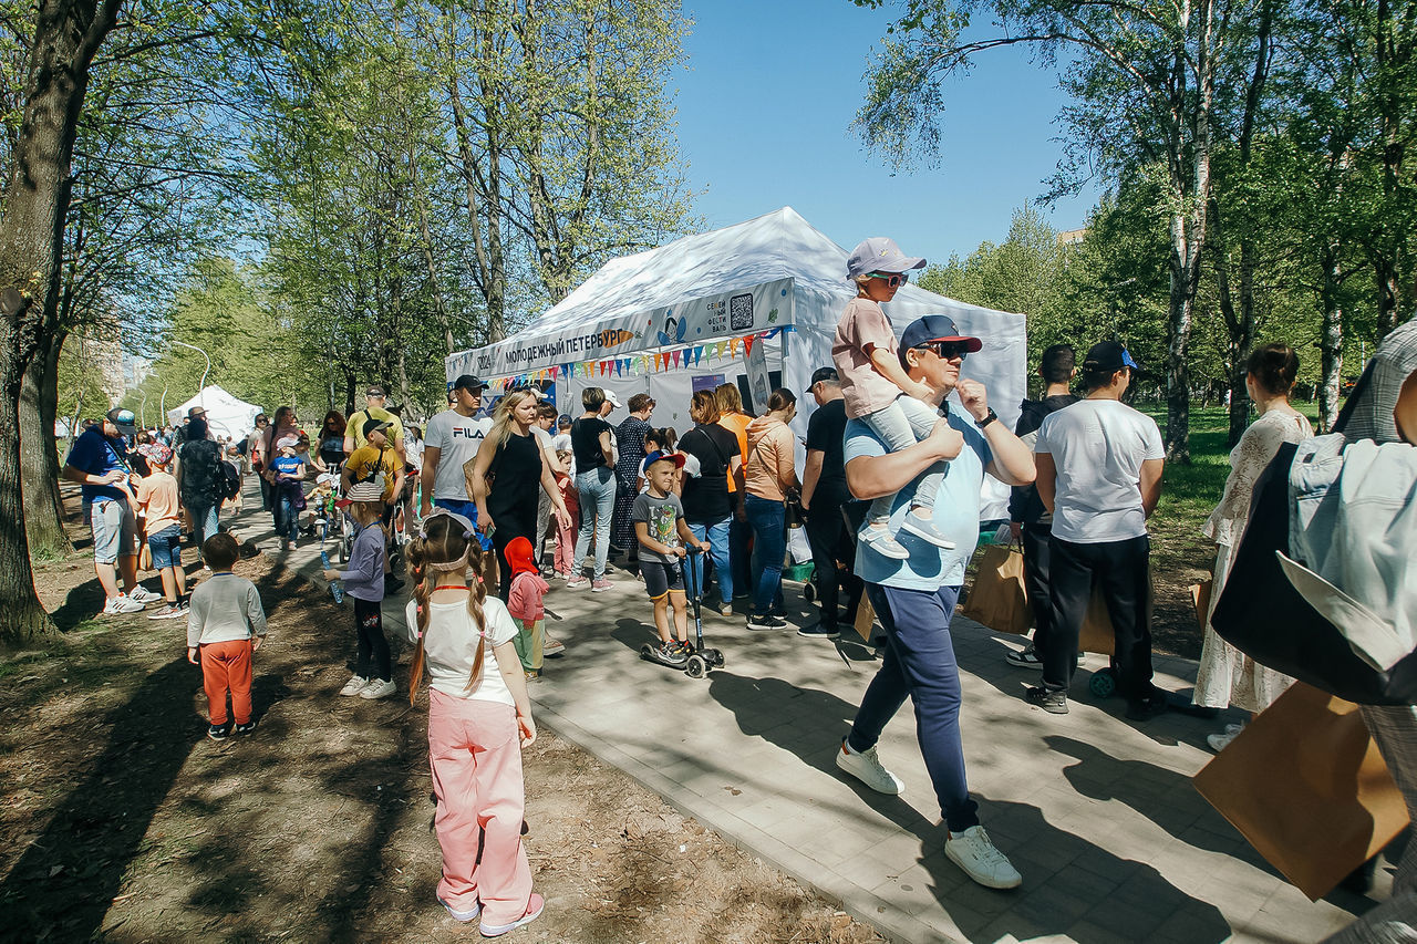
<path fill-rule="evenodd" d="M 444 853 L 438 897 L 455 911 L 470 911 L 480 901 L 483 921 L 512 924 L 531 901 L 516 709 L 436 690 L 429 696 L 434 828 Z"/>

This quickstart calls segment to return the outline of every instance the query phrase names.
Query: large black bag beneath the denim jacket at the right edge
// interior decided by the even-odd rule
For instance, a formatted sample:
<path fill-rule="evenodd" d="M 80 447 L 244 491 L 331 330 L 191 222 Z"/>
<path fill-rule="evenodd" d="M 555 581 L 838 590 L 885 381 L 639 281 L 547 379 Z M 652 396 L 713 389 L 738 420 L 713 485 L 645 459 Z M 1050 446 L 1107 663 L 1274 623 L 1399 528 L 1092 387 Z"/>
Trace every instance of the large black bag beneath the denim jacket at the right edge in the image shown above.
<path fill-rule="evenodd" d="M 1281 445 L 1255 481 L 1250 522 L 1210 625 L 1267 669 L 1329 695 L 1359 704 L 1413 704 L 1417 653 L 1387 670 L 1369 665 L 1284 573 L 1281 554 L 1289 553 L 1289 466 L 1297 452 L 1291 442 Z"/>

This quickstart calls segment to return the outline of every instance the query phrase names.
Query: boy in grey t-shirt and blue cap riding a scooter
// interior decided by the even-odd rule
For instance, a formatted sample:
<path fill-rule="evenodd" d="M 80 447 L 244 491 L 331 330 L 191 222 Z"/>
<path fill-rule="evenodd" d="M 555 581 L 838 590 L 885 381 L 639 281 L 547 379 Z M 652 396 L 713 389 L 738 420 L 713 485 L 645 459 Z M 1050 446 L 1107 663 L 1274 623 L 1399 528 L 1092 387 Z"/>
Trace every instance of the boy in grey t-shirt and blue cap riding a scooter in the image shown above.
<path fill-rule="evenodd" d="M 700 551 L 708 550 L 684 522 L 684 506 L 673 493 L 674 476 L 684 468 L 684 456 L 677 452 L 650 452 L 645 458 L 645 481 L 649 488 L 635 498 L 629 520 L 639 539 L 639 574 L 645 590 L 655 601 L 655 629 L 659 632 L 659 658 L 669 665 L 684 665 L 693 648 L 689 645 L 689 608 L 684 602 L 684 571 L 680 561 L 689 553 L 684 544 Z M 669 631 L 669 608 L 674 609 L 674 634 Z M 677 639 L 674 636 L 679 636 Z"/>

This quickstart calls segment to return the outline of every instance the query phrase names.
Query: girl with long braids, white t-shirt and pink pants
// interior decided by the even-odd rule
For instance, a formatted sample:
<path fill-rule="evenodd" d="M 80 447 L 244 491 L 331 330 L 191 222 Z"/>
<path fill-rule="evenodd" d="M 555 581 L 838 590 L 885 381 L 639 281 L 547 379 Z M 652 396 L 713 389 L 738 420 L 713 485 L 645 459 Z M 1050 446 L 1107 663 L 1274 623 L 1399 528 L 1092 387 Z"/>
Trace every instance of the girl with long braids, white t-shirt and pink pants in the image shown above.
<path fill-rule="evenodd" d="M 418 581 L 407 614 L 418 645 L 408 700 L 427 668 L 434 826 L 444 856 L 438 900 L 459 921 L 480 916 L 483 937 L 497 937 L 544 907 L 521 845 L 521 746 L 536 740 L 536 724 L 513 645 L 517 626 L 487 595 L 466 517 L 435 509 L 410 544 L 408 563 Z"/>

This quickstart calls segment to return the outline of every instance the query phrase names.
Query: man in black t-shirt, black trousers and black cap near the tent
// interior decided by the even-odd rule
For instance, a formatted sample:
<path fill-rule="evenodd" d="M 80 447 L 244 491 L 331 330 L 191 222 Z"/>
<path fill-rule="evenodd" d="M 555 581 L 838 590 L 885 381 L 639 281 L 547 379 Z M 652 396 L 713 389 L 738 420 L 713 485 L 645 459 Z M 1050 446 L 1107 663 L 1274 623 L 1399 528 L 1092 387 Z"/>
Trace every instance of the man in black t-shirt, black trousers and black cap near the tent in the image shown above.
<path fill-rule="evenodd" d="M 822 617 L 798 629 L 799 636 L 830 639 L 836 636 L 836 601 L 846 584 L 846 607 L 856 618 L 862 581 L 850 573 L 856 558 L 854 527 L 846 526 L 842 509 L 852 500 L 846 488 L 842 438 L 846 432 L 846 403 L 835 367 L 819 367 L 806 388 L 816 400 L 816 410 L 806 424 L 806 471 L 802 475 L 802 509 L 806 512 L 806 540 L 812 546 L 818 602 Z M 842 567 L 847 570 L 842 571 Z"/>

